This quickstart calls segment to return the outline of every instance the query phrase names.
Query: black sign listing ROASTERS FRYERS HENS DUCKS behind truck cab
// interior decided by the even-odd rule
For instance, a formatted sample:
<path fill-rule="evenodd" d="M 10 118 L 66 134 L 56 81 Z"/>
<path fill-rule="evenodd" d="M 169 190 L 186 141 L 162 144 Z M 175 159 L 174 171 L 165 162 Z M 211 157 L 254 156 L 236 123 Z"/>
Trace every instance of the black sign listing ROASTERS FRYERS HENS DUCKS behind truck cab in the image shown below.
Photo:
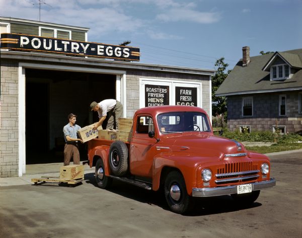
<path fill-rule="evenodd" d="M 145 106 L 169 105 L 169 86 L 145 84 Z"/>

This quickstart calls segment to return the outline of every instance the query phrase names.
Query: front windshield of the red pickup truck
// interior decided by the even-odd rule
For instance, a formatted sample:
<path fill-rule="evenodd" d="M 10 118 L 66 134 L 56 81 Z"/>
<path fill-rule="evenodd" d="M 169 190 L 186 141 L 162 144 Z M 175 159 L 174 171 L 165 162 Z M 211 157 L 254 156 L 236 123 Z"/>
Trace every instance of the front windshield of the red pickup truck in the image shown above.
<path fill-rule="evenodd" d="M 195 111 L 160 114 L 158 124 L 162 133 L 208 132 L 211 130 L 206 115 Z"/>

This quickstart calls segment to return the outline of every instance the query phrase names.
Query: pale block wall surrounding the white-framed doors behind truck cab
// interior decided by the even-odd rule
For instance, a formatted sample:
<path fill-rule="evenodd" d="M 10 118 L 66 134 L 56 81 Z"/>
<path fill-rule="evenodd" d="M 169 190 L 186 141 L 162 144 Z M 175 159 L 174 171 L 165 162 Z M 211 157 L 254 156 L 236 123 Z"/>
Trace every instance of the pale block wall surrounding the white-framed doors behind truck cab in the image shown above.
<path fill-rule="evenodd" d="M 191 75 L 167 72 L 148 72 L 148 71 L 127 71 L 126 91 L 127 91 L 127 117 L 132 117 L 134 112 L 139 109 L 139 78 L 167 79 L 173 81 L 194 81 L 201 82 L 202 108 L 210 114 L 210 81 L 207 75 Z"/>

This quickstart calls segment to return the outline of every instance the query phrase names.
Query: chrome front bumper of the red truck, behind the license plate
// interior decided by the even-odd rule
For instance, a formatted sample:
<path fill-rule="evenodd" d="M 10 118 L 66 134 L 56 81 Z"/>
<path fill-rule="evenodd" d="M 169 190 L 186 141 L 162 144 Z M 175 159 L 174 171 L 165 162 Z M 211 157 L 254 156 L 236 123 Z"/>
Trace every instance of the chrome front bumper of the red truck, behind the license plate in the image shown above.
<path fill-rule="evenodd" d="M 265 188 L 270 188 L 276 185 L 276 180 L 271 178 L 269 181 L 262 181 L 252 183 L 252 189 L 261 190 Z M 193 188 L 192 196 L 193 197 L 213 197 L 213 196 L 222 196 L 237 193 L 237 185 L 234 186 L 225 186 L 217 188 Z"/>

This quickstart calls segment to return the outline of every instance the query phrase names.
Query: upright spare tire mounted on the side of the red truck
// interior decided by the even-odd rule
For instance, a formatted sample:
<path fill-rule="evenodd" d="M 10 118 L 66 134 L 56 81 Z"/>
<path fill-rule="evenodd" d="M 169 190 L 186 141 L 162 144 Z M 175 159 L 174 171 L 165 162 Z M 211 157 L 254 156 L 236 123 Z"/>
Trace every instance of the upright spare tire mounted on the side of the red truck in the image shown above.
<path fill-rule="evenodd" d="M 128 170 L 128 147 L 122 141 L 115 141 L 110 146 L 109 166 L 116 176 L 123 176 Z"/>

